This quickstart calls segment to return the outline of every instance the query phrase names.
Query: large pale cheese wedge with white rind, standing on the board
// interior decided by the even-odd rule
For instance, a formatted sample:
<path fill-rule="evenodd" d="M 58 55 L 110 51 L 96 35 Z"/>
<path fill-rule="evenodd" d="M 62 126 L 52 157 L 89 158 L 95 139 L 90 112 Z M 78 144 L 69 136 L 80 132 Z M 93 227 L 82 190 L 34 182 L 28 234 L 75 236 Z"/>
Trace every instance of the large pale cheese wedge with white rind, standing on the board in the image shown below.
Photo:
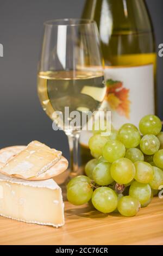
<path fill-rule="evenodd" d="M 65 222 L 61 188 L 53 179 L 28 181 L 0 174 L 0 215 L 60 227 Z"/>

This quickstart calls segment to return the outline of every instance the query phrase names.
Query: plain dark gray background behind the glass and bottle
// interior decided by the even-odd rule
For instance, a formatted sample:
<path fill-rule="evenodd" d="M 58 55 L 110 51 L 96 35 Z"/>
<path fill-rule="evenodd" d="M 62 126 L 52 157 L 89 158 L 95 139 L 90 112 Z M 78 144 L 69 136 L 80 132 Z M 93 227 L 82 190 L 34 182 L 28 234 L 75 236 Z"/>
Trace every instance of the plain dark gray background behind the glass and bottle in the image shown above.
<path fill-rule="evenodd" d="M 37 59 L 42 25 L 50 19 L 80 17 L 84 0 L 0 0 L 0 148 L 33 139 L 62 150 L 68 157 L 64 132 L 53 131 L 36 93 Z M 163 43 L 163 1 L 147 0 L 156 45 Z M 158 105 L 163 120 L 163 57 L 158 58 Z M 148 93 L 148 92 L 147 92 Z"/>

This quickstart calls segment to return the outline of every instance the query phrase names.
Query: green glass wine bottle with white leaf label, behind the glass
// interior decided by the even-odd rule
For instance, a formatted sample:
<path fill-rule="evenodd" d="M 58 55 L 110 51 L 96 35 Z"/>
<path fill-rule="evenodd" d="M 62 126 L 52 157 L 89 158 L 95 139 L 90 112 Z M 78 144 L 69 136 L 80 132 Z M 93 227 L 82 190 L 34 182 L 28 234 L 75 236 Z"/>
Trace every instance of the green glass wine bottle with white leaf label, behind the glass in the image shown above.
<path fill-rule="evenodd" d="M 143 0 L 87 0 L 84 19 L 97 22 L 105 62 L 105 107 L 115 129 L 155 113 L 156 53 L 151 18 Z M 82 162 L 89 158 L 83 132 Z M 86 159 L 87 160 L 87 159 Z"/>

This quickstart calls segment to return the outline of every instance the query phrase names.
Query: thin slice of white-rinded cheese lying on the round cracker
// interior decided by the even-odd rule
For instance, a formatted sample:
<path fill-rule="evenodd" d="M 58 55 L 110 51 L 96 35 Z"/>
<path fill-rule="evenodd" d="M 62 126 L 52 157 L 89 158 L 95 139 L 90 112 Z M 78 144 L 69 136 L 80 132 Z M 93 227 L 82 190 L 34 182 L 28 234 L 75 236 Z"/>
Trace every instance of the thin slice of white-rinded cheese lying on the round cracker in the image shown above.
<path fill-rule="evenodd" d="M 57 163 L 61 154 L 61 151 L 33 141 L 15 157 L 9 159 L 1 168 L 1 172 L 7 175 L 20 175 L 24 179 L 39 176 Z"/>

